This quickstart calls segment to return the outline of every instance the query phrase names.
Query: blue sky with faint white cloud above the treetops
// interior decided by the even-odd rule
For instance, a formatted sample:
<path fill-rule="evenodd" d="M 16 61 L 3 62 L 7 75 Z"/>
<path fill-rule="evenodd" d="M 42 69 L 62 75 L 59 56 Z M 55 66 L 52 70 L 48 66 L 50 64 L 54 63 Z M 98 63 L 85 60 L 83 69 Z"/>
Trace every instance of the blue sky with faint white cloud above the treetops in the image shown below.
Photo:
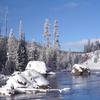
<path fill-rule="evenodd" d="M 62 50 L 81 51 L 87 39 L 100 40 L 100 0 L 0 0 L 2 32 L 7 8 L 8 33 L 13 28 L 16 37 L 21 18 L 26 40 L 41 43 L 48 18 L 52 36 L 54 20 L 58 20 Z"/>

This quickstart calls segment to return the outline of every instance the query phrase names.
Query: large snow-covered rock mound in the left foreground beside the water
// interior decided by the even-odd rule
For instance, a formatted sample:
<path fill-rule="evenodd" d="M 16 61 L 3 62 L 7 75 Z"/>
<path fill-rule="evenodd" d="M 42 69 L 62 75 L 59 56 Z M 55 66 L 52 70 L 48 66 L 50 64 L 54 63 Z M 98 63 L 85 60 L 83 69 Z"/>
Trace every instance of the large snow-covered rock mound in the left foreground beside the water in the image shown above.
<path fill-rule="evenodd" d="M 44 78 L 39 72 L 31 69 L 25 70 L 23 72 L 14 72 L 7 80 L 6 85 L 0 88 L 0 94 L 12 95 L 15 92 L 26 93 L 26 90 L 30 91 L 30 89 L 34 90 L 48 88 L 48 80 Z"/>

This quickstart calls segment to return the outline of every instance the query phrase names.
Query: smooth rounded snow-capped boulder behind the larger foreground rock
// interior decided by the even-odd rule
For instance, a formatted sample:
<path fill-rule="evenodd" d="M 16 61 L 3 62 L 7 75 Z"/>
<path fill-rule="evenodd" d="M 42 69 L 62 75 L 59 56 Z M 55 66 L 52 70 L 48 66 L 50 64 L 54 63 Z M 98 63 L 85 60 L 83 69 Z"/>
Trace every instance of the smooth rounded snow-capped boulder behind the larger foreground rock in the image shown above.
<path fill-rule="evenodd" d="M 26 69 L 34 69 L 35 71 L 41 74 L 47 73 L 47 67 L 43 61 L 29 61 L 29 63 L 26 66 Z"/>

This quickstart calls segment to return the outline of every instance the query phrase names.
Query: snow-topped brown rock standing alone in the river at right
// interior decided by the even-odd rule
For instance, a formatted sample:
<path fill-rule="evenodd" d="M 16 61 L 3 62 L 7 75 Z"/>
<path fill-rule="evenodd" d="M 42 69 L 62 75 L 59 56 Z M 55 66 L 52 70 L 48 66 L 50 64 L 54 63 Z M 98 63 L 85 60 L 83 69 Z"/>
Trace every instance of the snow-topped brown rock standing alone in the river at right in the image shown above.
<path fill-rule="evenodd" d="M 88 74 L 90 74 L 90 70 L 84 65 L 75 64 L 72 68 L 72 74 L 74 74 L 74 75 L 88 75 Z"/>

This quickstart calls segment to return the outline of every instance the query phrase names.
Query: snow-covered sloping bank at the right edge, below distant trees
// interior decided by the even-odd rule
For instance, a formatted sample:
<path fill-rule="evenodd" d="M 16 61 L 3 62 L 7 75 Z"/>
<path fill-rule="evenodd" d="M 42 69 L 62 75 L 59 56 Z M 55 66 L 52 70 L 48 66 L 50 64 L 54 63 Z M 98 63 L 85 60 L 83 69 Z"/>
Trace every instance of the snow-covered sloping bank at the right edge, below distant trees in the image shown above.
<path fill-rule="evenodd" d="M 90 70 L 100 70 L 100 50 L 95 52 L 87 53 L 89 59 L 82 63 L 87 66 Z"/>

